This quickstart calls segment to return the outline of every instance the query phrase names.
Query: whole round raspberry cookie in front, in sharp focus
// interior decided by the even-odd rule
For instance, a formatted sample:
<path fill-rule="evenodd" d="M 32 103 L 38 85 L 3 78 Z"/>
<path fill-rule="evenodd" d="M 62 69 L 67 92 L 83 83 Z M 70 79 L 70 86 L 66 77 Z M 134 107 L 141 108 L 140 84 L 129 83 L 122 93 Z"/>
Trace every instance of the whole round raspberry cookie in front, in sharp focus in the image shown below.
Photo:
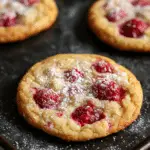
<path fill-rule="evenodd" d="M 64 54 L 35 64 L 21 80 L 18 110 L 36 128 L 68 141 L 105 137 L 140 114 L 136 77 L 113 60 Z"/>

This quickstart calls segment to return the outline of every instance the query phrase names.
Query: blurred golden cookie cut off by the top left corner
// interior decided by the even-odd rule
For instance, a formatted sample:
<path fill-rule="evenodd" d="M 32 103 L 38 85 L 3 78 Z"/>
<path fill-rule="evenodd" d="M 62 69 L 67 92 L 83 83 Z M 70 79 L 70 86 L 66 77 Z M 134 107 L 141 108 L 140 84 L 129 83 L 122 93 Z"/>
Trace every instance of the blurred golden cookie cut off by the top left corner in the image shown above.
<path fill-rule="evenodd" d="M 50 28 L 57 14 L 54 0 L 1 0 L 0 43 L 24 40 Z"/>

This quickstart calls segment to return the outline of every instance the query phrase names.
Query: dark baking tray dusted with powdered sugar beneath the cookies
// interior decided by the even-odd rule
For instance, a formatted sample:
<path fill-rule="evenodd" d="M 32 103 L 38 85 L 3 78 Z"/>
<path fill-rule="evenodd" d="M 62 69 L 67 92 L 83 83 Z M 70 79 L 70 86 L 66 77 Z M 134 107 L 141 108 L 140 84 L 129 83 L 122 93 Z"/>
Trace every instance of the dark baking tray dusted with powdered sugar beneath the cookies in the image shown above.
<path fill-rule="evenodd" d="M 94 0 L 56 2 L 60 13 L 51 29 L 23 42 L 0 45 L 0 139 L 3 145 L 16 150 L 135 149 L 150 136 L 150 54 L 120 52 L 100 42 L 87 25 L 87 11 Z M 62 141 L 28 125 L 17 112 L 18 82 L 34 63 L 57 53 L 101 54 L 129 68 L 144 90 L 138 120 L 126 130 L 106 138 L 76 143 Z"/>

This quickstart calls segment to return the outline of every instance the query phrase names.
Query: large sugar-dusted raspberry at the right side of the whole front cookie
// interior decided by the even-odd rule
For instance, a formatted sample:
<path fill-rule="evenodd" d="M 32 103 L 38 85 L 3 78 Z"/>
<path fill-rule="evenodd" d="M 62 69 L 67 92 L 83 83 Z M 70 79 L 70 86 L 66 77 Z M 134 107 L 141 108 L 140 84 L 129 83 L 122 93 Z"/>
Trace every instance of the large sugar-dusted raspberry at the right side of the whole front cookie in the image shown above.
<path fill-rule="evenodd" d="M 125 90 L 116 82 L 108 79 L 98 79 L 92 86 L 93 94 L 100 100 L 120 102 L 125 96 Z"/>

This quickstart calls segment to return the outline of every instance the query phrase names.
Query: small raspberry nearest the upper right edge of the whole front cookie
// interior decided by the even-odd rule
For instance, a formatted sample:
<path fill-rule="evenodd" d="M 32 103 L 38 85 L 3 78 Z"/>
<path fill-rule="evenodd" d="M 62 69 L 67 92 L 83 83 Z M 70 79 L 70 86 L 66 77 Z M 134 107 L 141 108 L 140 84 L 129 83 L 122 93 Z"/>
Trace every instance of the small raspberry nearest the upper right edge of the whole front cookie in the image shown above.
<path fill-rule="evenodd" d="M 113 73 L 114 72 L 113 66 L 104 60 L 97 61 L 96 63 L 93 64 L 93 67 L 98 73 Z"/>

